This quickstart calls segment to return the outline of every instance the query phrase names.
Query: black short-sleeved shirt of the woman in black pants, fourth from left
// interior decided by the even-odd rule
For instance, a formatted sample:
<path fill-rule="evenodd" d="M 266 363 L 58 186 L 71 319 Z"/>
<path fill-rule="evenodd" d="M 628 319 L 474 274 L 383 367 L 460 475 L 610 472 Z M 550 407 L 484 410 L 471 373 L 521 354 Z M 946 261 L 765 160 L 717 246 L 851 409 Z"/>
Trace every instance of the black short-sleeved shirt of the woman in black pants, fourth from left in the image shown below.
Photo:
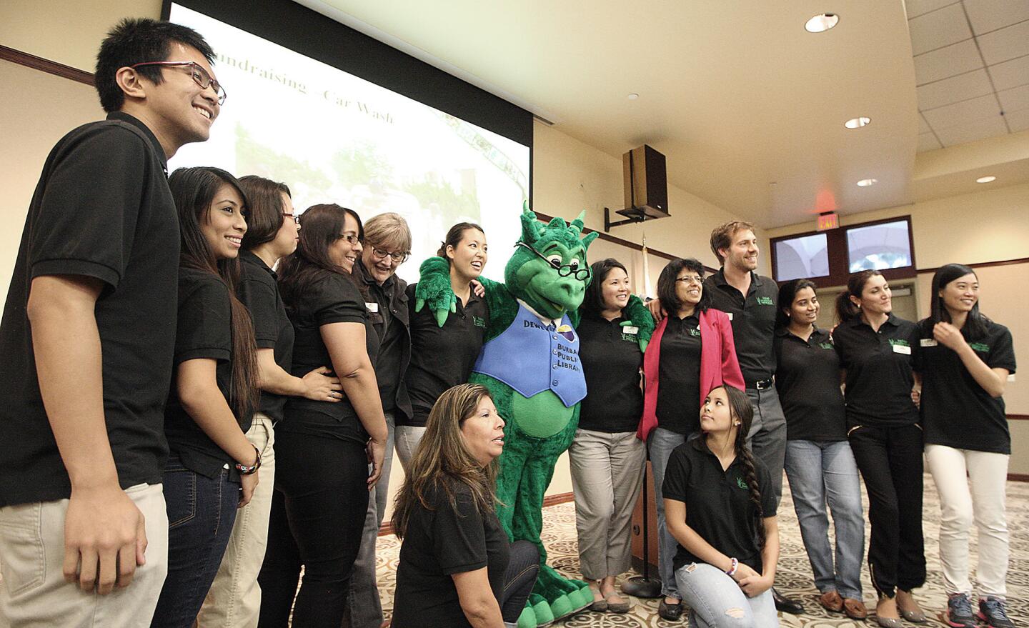
<path fill-rule="evenodd" d="M 286 303 L 286 312 L 295 335 L 292 374 L 303 377 L 318 367 L 332 368 L 328 348 L 322 341 L 321 327 L 336 322 L 364 325 L 364 350 L 375 365 L 379 335 L 371 326 L 364 304 L 364 296 L 353 279 L 328 271 L 296 303 Z M 354 350 L 359 349 L 355 347 Z M 362 445 L 368 441 L 368 432 L 346 396 L 335 404 L 289 397 L 285 418 L 276 429 L 351 440 Z"/>

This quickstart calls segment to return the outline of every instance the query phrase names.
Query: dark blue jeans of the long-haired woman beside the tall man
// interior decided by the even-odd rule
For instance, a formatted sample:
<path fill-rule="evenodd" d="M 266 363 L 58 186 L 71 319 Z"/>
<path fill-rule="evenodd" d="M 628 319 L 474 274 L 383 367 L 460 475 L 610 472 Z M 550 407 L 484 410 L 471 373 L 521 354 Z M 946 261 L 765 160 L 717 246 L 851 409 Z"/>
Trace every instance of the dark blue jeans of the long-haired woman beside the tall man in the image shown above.
<path fill-rule="evenodd" d="M 215 479 L 182 465 L 174 453 L 165 465 L 168 504 L 168 578 L 150 628 L 189 628 L 200 613 L 228 545 L 240 504 L 240 484 L 228 469 Z"/>

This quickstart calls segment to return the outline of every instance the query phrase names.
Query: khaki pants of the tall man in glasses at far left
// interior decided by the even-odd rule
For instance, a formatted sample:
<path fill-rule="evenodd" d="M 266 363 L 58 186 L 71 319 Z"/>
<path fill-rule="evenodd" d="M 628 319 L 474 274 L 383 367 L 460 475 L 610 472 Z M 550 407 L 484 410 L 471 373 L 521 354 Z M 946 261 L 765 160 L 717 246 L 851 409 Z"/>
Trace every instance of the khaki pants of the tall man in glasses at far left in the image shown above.
<path fill-rule="evenodd" d="M 159 484 L 126 489 L 146 520 L 146 564 L 129 587 L 108 595 L 65 582 L 68 500 L 0 509 L 0 627 L 146 628 L 168 573 L 168 513 Z"/>

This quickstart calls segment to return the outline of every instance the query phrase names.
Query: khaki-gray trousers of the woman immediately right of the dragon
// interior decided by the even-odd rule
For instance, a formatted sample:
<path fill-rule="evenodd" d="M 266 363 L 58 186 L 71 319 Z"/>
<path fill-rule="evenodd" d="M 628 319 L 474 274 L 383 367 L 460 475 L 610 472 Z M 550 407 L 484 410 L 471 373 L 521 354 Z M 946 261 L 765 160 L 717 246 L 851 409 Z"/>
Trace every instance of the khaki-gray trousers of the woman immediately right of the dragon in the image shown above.
<path fill-rule="evenodd" d="M 632 564 L 630 532 L 645 461 L 646 447 L 634 431 L 575 431 L 568 462 L 579 570 L 587 580 L 617 575 Z"/>

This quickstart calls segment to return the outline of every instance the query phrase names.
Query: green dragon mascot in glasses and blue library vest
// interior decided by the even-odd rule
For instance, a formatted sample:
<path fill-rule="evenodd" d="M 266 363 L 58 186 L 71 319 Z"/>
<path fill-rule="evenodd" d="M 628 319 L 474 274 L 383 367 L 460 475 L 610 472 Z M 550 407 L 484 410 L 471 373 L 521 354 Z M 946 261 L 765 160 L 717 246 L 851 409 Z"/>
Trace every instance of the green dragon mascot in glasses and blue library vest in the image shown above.
<path fill-rule="evenodd" d="M 480 279 L 490 324 L 470 381 L 489 388 L 506 421 L 497 515 L 511 540 L 539 548 L 539 575 L 518 623 L 532 628 L 593 603 L 587 583 L 566 579 L 546 564 L 540 532 L 543 494 L 558 457 L 575 435 L 587 392 L 575 326 L 592 279 L 586 251 L 599 234 L 581 237 L 581 214 L 570 224 L 554 218 L 543 225 L 526 205 L 521 218 L 522 238 L 504 269 L 505 283 Z M 441 257 L 422 264 L 415 303 L 416 310 L 428 305 L 440 325 L 454 311 L 456 298 Z M 645 349 L 653 319 L 636 296 L 627 314 L 631 322 L 625 324 L 638 327 Z"/>

